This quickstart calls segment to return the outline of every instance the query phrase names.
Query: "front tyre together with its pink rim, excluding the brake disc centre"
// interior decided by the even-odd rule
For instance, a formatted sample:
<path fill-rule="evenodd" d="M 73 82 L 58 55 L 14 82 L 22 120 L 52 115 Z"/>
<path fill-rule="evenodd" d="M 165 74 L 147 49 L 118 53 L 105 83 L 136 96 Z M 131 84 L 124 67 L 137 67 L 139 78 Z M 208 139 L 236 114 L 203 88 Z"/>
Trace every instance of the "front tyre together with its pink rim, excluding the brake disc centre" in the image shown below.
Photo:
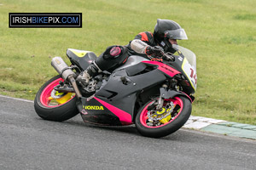
<path fill-rule="evenodd" d="M 147 108 L 148 105 L 153 102 L 153 100 L 148 101 L 147 104 L 143 105 L 135 119 L 137 130 L 143 136 L 151 138 L 164 137 L 166 135 L 176 132 L 180 127 L 183 127 L 185 122 L 188 121 L 192 111 L 192 105 L 188 98 L 183 96 L 177 96 L 173 99 L 165 100 L 172 100 L 180 106 L 180 109 L 177 112 L 177 116 L 173 116 L 169 122 L 166 122 L 166 124 L 160 124 L 159 126 L 148 125 Z"/>

